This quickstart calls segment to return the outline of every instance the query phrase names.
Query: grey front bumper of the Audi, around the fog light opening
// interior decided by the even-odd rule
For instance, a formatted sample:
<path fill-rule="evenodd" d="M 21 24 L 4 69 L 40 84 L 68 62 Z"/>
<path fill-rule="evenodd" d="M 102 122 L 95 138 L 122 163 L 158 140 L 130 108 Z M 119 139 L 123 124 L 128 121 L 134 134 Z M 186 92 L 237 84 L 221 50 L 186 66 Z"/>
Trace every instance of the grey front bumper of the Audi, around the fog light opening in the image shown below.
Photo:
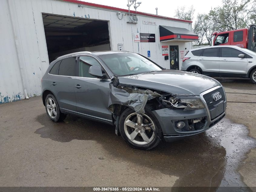
<path fill-rule="evenodd" d="M 177 109 L 159 109 L 152 111 L 160 123 L 164 139 L 167 142 L 172 142 L 184 139 L 188 136 L 196 135 L 208 130 L 214 126 L 225 116 L 225 111 L 213 121 L 209 120 L 207 109 L 198 109 L 192 111 L 184 111 Z M 205 123 L 200 130 L 180 131 L 175 127 L 175 120 L 190 120 L 205 117 Z"/>

